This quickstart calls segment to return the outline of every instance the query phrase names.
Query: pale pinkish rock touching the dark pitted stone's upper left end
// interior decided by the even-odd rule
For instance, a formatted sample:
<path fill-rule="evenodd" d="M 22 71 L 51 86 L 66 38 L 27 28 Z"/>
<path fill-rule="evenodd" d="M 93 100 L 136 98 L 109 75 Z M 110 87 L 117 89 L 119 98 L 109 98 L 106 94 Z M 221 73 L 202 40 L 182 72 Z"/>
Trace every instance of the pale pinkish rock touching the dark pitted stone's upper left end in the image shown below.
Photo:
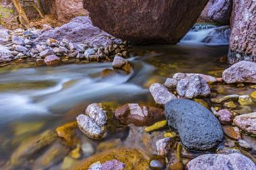
<path fill-rule="evenodd" d="M 150 86 L 150 93 L 158 105 L 164 105 L 172 99 L 177 99 L 174 94 L 170 93 L 170 91 L 160 83 L 153 83 Z"/>

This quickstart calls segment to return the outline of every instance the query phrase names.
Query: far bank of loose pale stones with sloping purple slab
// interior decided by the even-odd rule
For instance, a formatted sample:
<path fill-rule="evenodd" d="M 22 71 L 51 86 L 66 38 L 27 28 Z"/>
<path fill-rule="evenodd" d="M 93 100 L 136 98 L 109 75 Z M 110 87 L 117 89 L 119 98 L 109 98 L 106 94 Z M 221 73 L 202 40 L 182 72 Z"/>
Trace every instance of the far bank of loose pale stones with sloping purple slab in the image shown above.
<path fill-rule="evenodd" d="M 74 30 L 75 28 L 76 30 Z M 129 56 L 127 42 L 92 26 L 88 17 L 76 17 L 60 28 L 5 30 L 0 32 L 0 62 L 32 59 L 38 65 L 57 65 L 73 58 L 88 61 Z"/>

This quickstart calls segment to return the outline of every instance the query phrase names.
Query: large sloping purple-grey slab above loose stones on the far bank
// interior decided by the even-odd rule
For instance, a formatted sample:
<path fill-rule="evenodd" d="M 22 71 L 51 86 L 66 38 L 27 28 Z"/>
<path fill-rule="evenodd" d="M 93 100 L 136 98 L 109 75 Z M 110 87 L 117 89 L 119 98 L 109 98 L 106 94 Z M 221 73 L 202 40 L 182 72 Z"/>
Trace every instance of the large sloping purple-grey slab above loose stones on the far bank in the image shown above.
<path fill-rule="evenodd" d="M 92 25 L 89 17 L 75 17 L 71 22 L 55 29 L 43 32 L 36 42 L 49 38 L 62 41 L 63 38 L 75 43 L 89 43 L 91 46 L 106 46 L 113 42 L 114 37 Z M 111 39 L 110 39 L 111 38 Z"/>

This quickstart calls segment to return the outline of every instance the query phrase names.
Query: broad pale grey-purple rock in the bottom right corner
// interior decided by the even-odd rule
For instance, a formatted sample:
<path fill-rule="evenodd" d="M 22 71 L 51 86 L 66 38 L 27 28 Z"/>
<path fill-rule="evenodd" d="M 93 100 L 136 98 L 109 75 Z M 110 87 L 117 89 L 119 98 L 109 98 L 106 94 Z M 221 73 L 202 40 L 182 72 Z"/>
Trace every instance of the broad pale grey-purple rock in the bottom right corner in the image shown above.
<path fill-rule="evenodd" d="M 233 170 L 255 170 L 253 161 L 240 153 L 229 155 L 206 154 L 201 155 L 187 164 L 187 170 L 214 170 L 214 169 L 233 169 Z"/>

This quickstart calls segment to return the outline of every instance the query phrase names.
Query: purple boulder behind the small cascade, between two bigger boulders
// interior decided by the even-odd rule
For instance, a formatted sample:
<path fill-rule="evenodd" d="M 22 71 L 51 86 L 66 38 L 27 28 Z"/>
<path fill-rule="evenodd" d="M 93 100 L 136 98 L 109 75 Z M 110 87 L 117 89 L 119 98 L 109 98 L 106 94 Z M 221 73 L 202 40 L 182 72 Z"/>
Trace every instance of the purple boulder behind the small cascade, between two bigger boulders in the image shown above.
<path fill-rule="evenodd" d="M 199 22 L 215 22 L 223 26 L 229 25 L 232 12 L 232 1 L 230 0 L 210 0 L 201 15 Z"/>

